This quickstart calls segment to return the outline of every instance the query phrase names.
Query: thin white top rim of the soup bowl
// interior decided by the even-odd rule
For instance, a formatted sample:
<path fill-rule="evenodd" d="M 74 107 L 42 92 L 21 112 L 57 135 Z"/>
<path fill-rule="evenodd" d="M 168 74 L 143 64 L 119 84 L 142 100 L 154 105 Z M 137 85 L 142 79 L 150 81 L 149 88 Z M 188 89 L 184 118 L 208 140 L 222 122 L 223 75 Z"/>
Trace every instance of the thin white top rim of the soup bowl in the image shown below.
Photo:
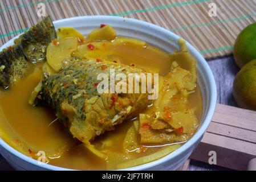
<path fill-rule="evenodd" d="M 65 23 L 65 22 L 70 22 L 72 20 L 86 20 L 86 19 L 91 19 L 91 20 L 92 19 L 102 19 L 102 20 L 107 19 L 108 21 L 116 21 L 116 22 L 118 22 L 118 21 L 123 22 L 125 20 L 125 21 L 130 22 L 130 23 L 140 24 L 141 26 L 150 26 L 151 28 L 155 29 L 156 31 L 158 31 L 160 33 L 162 32 L 163 34 L 168 34 L 168 36 L 170 38 L 173 38 L 175 40 L 178 40 L 178 39 L 181 38 L 180 36 L 174 34 L 173 32 L 171 32 L 169 30 L 166 30 L 165 28 L 162 28 L 162 27 L 157 26 L 155 24 L 144 22 L 143 20 L 138 20 L 138 19 L 133 19 L 133 18 L 125 18 L 125 17 L 121 17 L 121 16 L 105 16 L 105 15 L 75 16 L 75 17 L 72 17 L 72 18 L 65 18 L 65 19 L 55 20 L 53 23 L 54 23 L 54 26 L 56 26 L 56 24 L 58 24 L 58 23 Z M 21 34 L 19 34 L 19 35 L 21 35 Z M 9 46 L 9 44 L 12 44 L 13 40 L 18 38 L 19 35 L 15 36 L 13 39 L 10 39 L 8 42 L 3 44 L 3 46 L 1 46 L 1 48 L 0 48 L 0 51 L 3 48 Z M 185 40 L 185 43 L 186 43 L 186 46 L 188 47 L 189 52 L 192 53 L 193 56 L 196 58 L 196 60 L 200 61 L 200 63 L 202 64 L 202 67 L 205 69 L 206 77 L 208 77 L 208 79 L 210 81 L 209 92 L 211 94 L 210 94 L 210 99 L 209 99 L 209 109 L 206 111 L 204 121 L 202 121 L 201 126 L 198 128 L 198 130 L 193 135 L 193 137 L 190 138 L 188 140 L 188 142 L 183 144 L 180 148 L 178 148 L 176 151 L 172 152 L 171 154 L 168 154 L 168 155 L 164 156 L 164 158 L 160 158 L 160 159 L 155 160 L 155 161 L 150 162 L 150 163 L 141 164 L 140 166 L 125 168 L 125 169 L 121 169 L 121 170 L 145 170 L 147 168 L 157 166 L 161 163 L 167 162 L 168 160 L 170 160 L 172 158 L 175 158 L 176 156 L 178 156 L 183 151 L 186 151 L 190 147 L 192 147 L 193 144 L 195 144 L 198 140 L 201 140 L 201 137 L 204 135 L 205 131 L 207 130 L 208 126 L 210 125 L 210 122 L 212 121 L 214 110 L 215 110 L 216 104 L 217 104 L 216 82 L 215 82 L 213 73 L 212 73 L 208 63 L 206 62 L 204 57 L 201 55 L 201 53 L 199 51 L 197 51 L 197 49 L 194 48 L 186 40 Z M 0 145 L 3 148 L 5 148 L 5 150 L 9 151 L 11 154 L 16 156 L 17 158 L 19 158 L 21 160 L 25 160 L 25 162 L 30 163 L 30 164 L 32 164 L 36 167 L 40 167 L 42 169 L 62 170 L 62 171 L 63 170 L 76 170 L 76 169 L 71 169 L 71 168 L 53 166 L 51 164 L 44 164 L 44 163 L 40 164 L 40 163 L 38 163 L 37 160 L 32 159 L 32 158 L 30 158 L 29 156 L 27 156 L 25 154 L 22 154 L 18 150 L 15 150 L 13 147 L 11 147 L 9 144 L 7 144 L 2 138 L 0 138 Z"/>

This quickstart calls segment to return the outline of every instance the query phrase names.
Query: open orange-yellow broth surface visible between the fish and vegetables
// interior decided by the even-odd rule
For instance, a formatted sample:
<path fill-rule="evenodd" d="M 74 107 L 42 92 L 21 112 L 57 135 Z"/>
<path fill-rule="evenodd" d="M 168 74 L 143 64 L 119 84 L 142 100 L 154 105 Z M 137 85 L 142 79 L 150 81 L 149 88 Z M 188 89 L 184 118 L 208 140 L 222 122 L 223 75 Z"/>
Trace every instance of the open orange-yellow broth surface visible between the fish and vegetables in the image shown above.
<path fill-rule="evenodd" d="M 109 59 L 119 59 L 121 63 L 127 65 L 135 64 L 137 67 L 152 69 L 162 76 L 170 69 L 170 56 L 151 46 L 137 47 L 126 44 L 112 47 L 110 52 Z M 92 55 L 95 59 L 98 56 L 97 54 Z M 189 61 L 188 57 L 183 58 L 185 59 L 184 61 Z M 71 135 L 59 122 L 52 123 L 56 117 L 51 110 L 45 107 L 32 107 L 29 105 L 30 94 L 39 80 L 40 73 L 35 72 L 17 82 L 9 90 L 1 90 L 0 109 L 2 111 L 0 111 L 5 118 L 1 118 L 0 126 L 6 135 L 11 138 L 5 140 L 9 141 L 9 144 L 14 142 L 11 146 L 26 155 L 31 155 L 31 152 L 40 150 L 49 154 L 56 150 L 59 151 L 58 154 L 50 155 L 50 164 L 55 166 L 74 169 L 107 169 L 103 159 L 91 154 L 77 140 L 72 139 Z M 195 114 L 200 121 L 202 102 L 198 86 L 196 92 L 189 96 L 189 108 L 196 108 Z M 149 107 L 150 109 L 151 107 Z M 106 138 L 111 138 L 113 143 L 123 143 L 126 131 L 131 126 L 132 122 L 124 122 L 122 125 L 117 126 L 115 131 L 107 132 L 97 137 L 93 144 L 97 146 L 101 140 Z M 19 147 L 15 146 L 15 143 Z M 136 157 L 144 156 L 162 148 L 164 147 L 149 147 L 146 152 L 134 155 Z M 121 144 L 114 144 L 107 149 L 123 153 Z"/>

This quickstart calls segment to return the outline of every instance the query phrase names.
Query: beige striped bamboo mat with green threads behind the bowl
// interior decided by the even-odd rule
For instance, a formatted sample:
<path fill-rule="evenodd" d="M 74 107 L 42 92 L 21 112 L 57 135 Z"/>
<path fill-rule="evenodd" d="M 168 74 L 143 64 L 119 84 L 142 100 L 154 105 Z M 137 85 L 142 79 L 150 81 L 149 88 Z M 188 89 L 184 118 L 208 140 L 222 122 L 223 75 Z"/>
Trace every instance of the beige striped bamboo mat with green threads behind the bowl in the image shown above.
<path fill-rule="evenodd" d="M 0 46 L 37 22 L 38 3 L 54 20 L 82 15 L 145 20 L 180 35 L 206 58 L 231 53 L 239 32 L 256 21 L 256 0 L 1 0 Z M 217 16 L 209 16 L 210 3 Z"/>

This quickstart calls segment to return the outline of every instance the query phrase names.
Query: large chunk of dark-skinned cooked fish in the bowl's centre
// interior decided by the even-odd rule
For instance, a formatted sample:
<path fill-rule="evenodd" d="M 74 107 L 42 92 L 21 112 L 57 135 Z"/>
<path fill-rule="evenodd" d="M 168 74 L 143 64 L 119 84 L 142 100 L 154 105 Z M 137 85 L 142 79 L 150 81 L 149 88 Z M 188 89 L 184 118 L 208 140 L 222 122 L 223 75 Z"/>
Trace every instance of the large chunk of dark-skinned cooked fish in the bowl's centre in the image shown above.
<path fill-rule="evenodd" d="M 115 73 L 143 73 L 143 69 L 127 65 L 76 60 L 59 73 L 40 82 L 35 105 L 54 109 L 73 137 L 88 143 L 96 135 L 134 117 L 150 104 L 147 93 L 98 93 L 97 75 L 115 69 Z M 110 80 L 110 78 L 108 78 Z"/>

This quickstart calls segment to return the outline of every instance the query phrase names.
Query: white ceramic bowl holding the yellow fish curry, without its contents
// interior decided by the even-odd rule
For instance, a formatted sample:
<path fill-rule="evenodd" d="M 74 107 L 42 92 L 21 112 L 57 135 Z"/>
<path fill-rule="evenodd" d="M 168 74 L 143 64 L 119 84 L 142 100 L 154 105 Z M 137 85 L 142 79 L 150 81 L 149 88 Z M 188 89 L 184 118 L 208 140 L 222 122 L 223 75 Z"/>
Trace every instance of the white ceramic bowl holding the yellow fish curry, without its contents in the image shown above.
<path fill-rule="evenodd" d="M 137 38 L 144 40 L 145 42 L 159 47 L 166 52 L 173 52 L 175 49 L 179 49 L 178 39 L 179 36 L 173 34 L 164 28 L 156 26 L 151 23 L 143 22 L 141 20 L 129 19 L 116 16 L 80 16 L 75 18 L 67 18 L 62 20 L 56 20 L 54 22 L 55 28 L 58 27 L 74 27 L 76 30 L 87 35 L 90 31 L 99 27 L 100 24 L 109 24 L 117 31 L 117 35 L 128 36 L 131 38 Z M 0 50 L 13 44 L 11 39 Z M 200 85 L 202 93 L 203 111 L 201 125 L 198 127 L 196 134 L 186 142 L 178 150 L 172 154 L 165 156 L 159 160 L 151 163 L 143 164 L 128 168 L 128 170 L 174 170 L 177 169 L 202 139 L 209 123 L 213 117 L 214 109 L 217 101 L 216 83 L 212 71 L 206 63 L 204 57 L 188 42 L 186 42 L 189 52 L 197 60 L 198 70 L 198 84 Z M 34 159 L 29 158 L 26 155 L 21 154 L 14 148 L 10 147 L 5 141 L 0 138 L 0 153 L 6 158 L 6 160 L 15 169 L 25 170 L 66 170 L 67 168 L 61 168 L 51 166 L 49 164 L 38 164 Z"/>

